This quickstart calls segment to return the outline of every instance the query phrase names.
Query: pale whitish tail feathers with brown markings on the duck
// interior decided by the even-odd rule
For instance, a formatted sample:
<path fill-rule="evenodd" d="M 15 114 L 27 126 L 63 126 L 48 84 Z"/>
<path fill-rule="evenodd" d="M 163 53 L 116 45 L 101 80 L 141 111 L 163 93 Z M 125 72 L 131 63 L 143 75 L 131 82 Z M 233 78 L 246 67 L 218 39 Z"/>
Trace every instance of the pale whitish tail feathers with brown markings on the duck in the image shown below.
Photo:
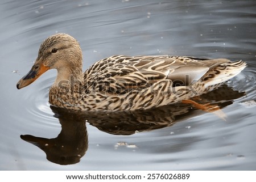
<path fill-rule="evenodd" d="M 245 67 L 246 63 L 242 60 L 218 65 L 203 76 L 205 87 L 224 83 L 238 75 Z"/>

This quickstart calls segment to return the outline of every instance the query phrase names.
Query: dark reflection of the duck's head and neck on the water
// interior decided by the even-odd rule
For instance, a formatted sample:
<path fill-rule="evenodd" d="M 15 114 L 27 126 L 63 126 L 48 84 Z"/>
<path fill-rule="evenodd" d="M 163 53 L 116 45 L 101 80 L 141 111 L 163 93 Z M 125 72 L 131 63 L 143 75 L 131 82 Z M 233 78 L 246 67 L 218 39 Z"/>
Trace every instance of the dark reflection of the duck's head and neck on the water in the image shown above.
<path fill-rule="evenodd" d="M 53 111 L 54 112 L 54 111 Z M 30 135 L 20 136 L 46 153 L 46 158 L 57 164 L 67 165 L 80 162 L 88 149 L 88 135 L 85 120 L 65 112 L 56 112 L 61 132 L 56 138 L 41 138 Z"/>

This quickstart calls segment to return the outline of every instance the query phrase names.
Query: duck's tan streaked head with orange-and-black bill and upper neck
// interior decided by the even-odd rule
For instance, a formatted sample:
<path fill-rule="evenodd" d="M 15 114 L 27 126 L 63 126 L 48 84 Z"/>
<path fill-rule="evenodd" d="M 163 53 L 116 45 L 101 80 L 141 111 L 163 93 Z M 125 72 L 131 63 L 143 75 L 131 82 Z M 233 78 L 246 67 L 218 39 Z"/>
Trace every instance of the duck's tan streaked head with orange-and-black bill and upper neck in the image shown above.
<path fill-rule="evenodd" d="M 40 45 L 31 70 L 17 83 L 18 89 L 34 82 L 49 69 L 57 69 L 55 83 L 82 75 L 82 50 L 76 39 L 65 33 L 48 37 Z"/>

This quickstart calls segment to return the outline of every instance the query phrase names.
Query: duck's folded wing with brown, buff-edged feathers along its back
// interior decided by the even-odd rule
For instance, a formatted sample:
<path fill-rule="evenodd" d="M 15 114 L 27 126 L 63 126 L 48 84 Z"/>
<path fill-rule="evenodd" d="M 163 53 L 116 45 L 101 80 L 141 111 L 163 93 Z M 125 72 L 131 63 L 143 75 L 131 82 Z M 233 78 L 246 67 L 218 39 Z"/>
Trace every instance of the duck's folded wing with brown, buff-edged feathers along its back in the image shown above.
<path fill-rule="evenodd" d="M 189 86 L 208 70 L 229 60 L 207 60 L 181 56 L 112 56 L 96 62 L 84 73 L 90 91 L 126 94 L 143 90 L 160 81 L 172 87 Z"/>

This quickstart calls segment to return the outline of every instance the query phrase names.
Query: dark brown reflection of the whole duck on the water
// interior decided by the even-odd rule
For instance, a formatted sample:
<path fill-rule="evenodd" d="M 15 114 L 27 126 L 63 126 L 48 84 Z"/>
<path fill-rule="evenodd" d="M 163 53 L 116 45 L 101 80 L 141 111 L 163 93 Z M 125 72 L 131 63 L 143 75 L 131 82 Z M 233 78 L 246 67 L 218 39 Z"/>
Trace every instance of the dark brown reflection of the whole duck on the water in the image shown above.
<path fill-rule="evenodd" d="M 193 98 L 199 104 L 213 104 L 219 108 L 233 103 L 234 99 L 241 98 L 245 92 L 234 91 L 224 85 L 217 90 Z M 20 136 L 42 149 L 47 159 L 53 163 L 67 165 L 80 162 L 88 149 L 88 133 L 86 121 L 99 130 L 115 134 L 130 135 L 136 132 L 149 131 L 171 126 L 178 121 L 204 111 L 195 109 L 190 104 L 166 105 L 146 111 L 123 112 L 71 112 L 66 109 L 51 106 L 55 117 L 59 118 L 61 132 L 56 138 L 41 138 L 31 135 Z"/>

